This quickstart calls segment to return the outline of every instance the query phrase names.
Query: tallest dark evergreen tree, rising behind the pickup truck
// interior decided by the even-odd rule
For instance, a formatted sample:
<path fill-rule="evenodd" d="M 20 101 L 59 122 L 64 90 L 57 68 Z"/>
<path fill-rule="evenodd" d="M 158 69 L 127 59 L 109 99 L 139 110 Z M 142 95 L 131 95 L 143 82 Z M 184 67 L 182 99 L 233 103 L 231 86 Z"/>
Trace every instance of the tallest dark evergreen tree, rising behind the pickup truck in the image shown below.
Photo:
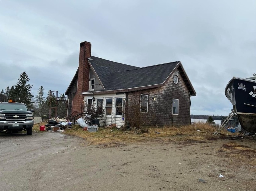
<path fill-rule="evenodd" d="M 31 107 L 33 104 L 33 95 L 30 93 L 30 91 L 33 85 L 27 84 L 28 81 L 29 78 L 26 72 L 21 73 L 18 83 L 15 85 L 15 91 L 17 93 L 16 102 L 22 102 L 28 107 Z"/>

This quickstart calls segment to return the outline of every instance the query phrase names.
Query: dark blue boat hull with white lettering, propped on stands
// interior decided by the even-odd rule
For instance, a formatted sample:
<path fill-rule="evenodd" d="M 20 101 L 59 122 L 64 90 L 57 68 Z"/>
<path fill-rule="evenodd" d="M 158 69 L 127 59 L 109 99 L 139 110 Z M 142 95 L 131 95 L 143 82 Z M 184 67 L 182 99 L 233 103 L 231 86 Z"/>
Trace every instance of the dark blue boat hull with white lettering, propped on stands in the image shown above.
<path fill-rule="evenodd" d="M 225 89 L 241 126 L 256 133 L 256 81 L 233 77 Z"/>

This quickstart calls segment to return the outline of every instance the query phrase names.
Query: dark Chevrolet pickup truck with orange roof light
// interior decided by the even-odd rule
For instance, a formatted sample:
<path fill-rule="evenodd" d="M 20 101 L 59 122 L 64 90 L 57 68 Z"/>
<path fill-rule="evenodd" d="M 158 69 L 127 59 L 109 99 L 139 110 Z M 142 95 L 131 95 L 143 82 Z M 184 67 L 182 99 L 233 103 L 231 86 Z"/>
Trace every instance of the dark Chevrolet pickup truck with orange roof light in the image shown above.
<path fill-rule="evenodd" d="M 24 130 L 27 135 L 32 135 L 33 112 L 34 109 L 28 110 L 24 103 L 0 102 L 0 131 L 17 133 Z"/>

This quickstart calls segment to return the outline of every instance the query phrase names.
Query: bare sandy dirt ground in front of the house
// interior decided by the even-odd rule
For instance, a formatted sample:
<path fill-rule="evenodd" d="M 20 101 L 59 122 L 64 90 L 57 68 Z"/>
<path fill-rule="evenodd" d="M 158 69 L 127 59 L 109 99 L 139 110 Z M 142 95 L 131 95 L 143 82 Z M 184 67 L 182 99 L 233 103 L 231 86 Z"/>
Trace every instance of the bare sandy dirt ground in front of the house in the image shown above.
<path fill-rule="evenodd" d="M 0 190 L 256 190 L 255 155 L 253 139 L 107 148 L 58 132 L 0 133 Z"/>

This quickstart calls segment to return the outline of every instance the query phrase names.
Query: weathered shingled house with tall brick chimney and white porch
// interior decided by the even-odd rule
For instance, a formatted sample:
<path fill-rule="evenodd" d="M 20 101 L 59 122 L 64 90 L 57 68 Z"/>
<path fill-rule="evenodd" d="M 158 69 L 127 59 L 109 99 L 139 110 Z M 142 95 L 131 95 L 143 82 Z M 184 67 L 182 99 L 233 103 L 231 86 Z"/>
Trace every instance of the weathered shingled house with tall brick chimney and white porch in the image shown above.
<path fill-rule="evenodd" d="M 87 103 L 103 107 L 101 124 L 173 126 L 190 124 L 196 92 L 180 61 L 140 68 L 91 56 L 91 43 L 82 42 L 65 95 L 69 118 Z"/>

